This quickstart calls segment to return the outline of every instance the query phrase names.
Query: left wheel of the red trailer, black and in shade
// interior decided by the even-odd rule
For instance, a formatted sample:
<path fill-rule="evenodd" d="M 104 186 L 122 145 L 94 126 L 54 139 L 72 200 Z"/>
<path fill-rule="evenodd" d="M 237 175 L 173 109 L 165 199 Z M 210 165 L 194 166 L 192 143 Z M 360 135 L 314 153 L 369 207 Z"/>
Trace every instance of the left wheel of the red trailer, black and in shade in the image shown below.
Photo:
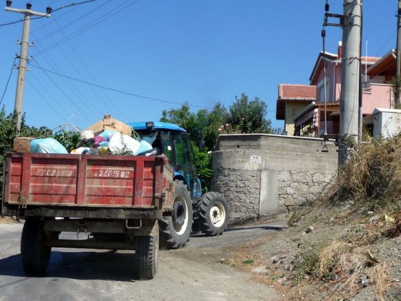
<path fill-rule="evenodd" d="M 21 259 L 24 271 L 31 275 L 43 274 L 48 266 L 51 247 L 45 246 L 46 233 L 39 230 L 39 219 L 28 217 L 21 235 Z"/>

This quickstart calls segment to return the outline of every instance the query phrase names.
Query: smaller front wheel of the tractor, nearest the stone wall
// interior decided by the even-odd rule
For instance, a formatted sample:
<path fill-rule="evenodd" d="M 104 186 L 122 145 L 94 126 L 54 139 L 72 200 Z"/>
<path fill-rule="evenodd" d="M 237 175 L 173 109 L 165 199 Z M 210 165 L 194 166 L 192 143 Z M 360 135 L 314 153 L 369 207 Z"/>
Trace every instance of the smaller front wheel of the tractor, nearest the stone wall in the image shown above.
<path fill-rule="evenodd" d="M 196 205 L 198 226 L 205 235 L 221 235 L 228 224 L 228 204 L 217 192 L 206 192 Z"/>

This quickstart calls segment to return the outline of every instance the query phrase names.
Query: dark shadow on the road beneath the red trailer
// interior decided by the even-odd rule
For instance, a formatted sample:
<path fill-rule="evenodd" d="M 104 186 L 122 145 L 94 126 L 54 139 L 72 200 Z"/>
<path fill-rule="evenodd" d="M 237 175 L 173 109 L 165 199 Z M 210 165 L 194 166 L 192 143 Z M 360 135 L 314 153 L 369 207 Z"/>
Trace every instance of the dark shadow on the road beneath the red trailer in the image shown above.
<path fill-rule="evenodd" d="M 47 271 L 34 277 L 64 277 L 77 280 L 133 281 L 133 253 L 52 251 Z M 31 277 L 22 268 L 21 256 L 0 259 L 0 275 Z M 1 289 L 1 285 L 0 285 Z"/>

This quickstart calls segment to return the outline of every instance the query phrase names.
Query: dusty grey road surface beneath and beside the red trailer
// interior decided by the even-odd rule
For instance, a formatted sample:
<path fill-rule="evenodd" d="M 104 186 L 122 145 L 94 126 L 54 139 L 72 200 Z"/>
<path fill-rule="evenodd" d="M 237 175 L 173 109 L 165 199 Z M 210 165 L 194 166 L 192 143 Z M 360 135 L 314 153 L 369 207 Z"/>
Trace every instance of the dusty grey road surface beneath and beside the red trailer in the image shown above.
<path fill-rule="evenodd" d="M 275 226 L 194 235 L 183 249 L 160 251 L 155 279 L 135 281 L 133 252 L 63 248 L 53 249 L 44 276 L 27 277 L 19 256 L 22 224 L 0 224 L 0 300 L 277 300 L 274 289 L 221 263 Z"/>

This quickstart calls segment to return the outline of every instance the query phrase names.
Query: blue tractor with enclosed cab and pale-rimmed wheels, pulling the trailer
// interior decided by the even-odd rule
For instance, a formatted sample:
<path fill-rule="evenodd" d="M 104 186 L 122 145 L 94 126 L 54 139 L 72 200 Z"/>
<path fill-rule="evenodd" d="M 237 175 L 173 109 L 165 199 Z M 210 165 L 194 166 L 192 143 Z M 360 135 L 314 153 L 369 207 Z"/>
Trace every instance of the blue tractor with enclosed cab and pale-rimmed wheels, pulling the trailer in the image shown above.
<path fill-rule="evenodd" d="M 160 242 L 167 248 L 180 248 L 188 241 L 193 229 L 205 235 L 221 235 L 227 228 L 228 204 L 217 192 L 202 194 L 187 131 L 167 122 L 128 125 L 152 145 L 149 154 L 165 154 L 174 170 L 174 205 L 173 210 L 165 212 L 159 221 Z"/>

